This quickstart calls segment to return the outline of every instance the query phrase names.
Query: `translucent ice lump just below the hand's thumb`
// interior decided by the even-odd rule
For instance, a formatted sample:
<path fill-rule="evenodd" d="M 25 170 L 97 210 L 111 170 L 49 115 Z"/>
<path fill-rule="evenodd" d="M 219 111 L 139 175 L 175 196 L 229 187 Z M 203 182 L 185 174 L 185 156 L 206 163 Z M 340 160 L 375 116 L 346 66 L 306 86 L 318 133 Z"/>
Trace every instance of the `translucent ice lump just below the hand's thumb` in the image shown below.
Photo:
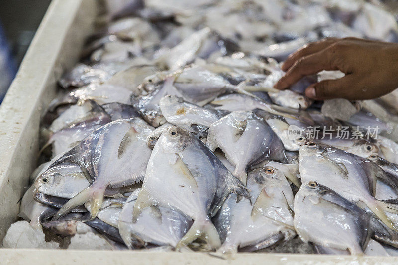
<path fill-rule="evenodd" d="M 347 121 L 359 111 L 359 107 L 344 98 L 325 100 L 322 105 L 322 114 L 332 119 Z"/>

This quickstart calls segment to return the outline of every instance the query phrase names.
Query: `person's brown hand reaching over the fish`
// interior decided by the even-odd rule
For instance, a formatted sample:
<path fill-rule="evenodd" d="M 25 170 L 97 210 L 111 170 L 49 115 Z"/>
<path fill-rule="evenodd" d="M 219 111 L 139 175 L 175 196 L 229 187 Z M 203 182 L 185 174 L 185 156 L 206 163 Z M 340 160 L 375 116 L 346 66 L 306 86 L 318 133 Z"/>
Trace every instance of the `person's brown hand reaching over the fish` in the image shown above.
<path fill-rule="evenodd" d="M 317 100 L 377 98 L 398 87 L 398 44 L 328 38 L 292 53 L 282 70 L 286 74 L 274 88 L 289 88 L 302 77 L 322 70 L 340 70 L 344 77 L 312 84 L 305 95 Z"/>

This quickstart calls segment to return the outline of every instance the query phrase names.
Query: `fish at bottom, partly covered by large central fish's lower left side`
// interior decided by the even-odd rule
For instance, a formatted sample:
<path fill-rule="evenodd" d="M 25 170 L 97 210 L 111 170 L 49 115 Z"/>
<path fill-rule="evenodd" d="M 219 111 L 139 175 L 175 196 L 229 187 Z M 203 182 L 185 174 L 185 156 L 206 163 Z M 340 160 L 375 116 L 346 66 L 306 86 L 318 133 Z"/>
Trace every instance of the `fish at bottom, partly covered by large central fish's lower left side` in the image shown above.
<path fill-rule="evenodd" d="M 143 209 L 133 222 L 133 208 L 139 191 L 127 198 L 120 213 L 118 228 L 124 243 L 130 249 L 137 239 L 158 246 L 176 247 L 192 225 L 192 219 L 170 207 L 158 205 Z"/>

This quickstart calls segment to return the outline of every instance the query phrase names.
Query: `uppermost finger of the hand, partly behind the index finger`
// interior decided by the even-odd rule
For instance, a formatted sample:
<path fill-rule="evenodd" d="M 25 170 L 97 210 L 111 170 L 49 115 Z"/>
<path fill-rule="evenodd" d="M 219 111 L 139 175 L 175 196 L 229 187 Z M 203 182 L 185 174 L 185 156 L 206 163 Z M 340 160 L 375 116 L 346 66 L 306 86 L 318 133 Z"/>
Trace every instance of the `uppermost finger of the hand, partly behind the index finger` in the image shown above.
<path fill-rule="evenodd" d="M 288 59 L 286 59 L 286 61 L 283 63 L 281 69 L 286 72 L 289 70 L 289 68 L 292 67 L 292 65 L 294 65 L 294 63 L 298 59 L 307 55 L 311 55 L 313 53 L 317 53 L 323 49 L 326 49 L 328 46 L 332 45 L 333 43 L 336 43 L 339 40 L 340 39 L 336 38 L 327 38 L 321 41 L 308 43 L 307 45 L 304 45 L 304 47 L 302 47 L 301 49 L 289 55 Z"/>

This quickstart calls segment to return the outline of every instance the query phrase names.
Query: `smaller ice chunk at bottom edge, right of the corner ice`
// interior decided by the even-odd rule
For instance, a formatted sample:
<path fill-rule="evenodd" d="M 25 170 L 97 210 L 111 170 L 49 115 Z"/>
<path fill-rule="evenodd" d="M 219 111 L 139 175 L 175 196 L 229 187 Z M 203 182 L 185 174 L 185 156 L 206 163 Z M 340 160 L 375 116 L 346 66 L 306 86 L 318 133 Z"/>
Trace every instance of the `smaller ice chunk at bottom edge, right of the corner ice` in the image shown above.
<path fill-rule="evenodd" d="M 88 232 L 86 234 L 76 234 L 71 238 L 71 244 L 68 249 L 75 250 L 113 250 L 112 244 L 110 244 L 103 237 Z"/>

